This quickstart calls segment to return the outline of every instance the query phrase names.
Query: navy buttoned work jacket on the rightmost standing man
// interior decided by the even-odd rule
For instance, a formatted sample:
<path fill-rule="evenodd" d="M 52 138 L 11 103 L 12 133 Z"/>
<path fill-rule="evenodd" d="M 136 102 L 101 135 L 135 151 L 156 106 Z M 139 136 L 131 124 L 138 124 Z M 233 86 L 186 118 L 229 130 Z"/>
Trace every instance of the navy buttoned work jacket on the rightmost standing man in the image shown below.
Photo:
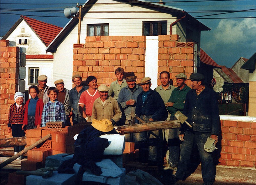
<path fill-rule="evenodd" d="M 213 135 L 219 133 L 220 115 L 217 93 L 205 87 L 197 96 L 196 90 L 187 93 L 183 114 L 188 117 L 187 121 L 192 125 L 195 132 L 211 132 Z M 189 128 L 182 124 L 180 131 Z"/>

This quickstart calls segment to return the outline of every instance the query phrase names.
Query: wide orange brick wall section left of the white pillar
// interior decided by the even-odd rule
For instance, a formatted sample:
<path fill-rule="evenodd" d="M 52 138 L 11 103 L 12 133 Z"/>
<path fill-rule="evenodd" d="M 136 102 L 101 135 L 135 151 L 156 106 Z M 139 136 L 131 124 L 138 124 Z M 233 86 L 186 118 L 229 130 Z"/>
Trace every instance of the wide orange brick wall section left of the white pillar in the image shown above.
<path fill-rule="evenodd" d="M 85 44 L 74 44 L 73 75 L 94 75 L 98 84 L 116 80 L 115 70 L 133 71 L 140 80 L 145 74 L 145 36 L 86 37 Z"/>

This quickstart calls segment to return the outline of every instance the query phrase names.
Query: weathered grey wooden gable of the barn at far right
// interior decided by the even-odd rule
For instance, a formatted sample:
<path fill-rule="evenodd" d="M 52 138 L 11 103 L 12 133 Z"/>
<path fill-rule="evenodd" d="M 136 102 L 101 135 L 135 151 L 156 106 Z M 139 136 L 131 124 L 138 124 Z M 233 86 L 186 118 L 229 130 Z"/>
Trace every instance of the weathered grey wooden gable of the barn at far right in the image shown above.
<path fill-rule="evenodd" d="M 241 57 L 237 62 L 231 67 L 233 71 L 240 77 L 244 83 L 249 83 L 249 71 L 241 69 L 241 66 L 247 62 L 248 59 Z"/>

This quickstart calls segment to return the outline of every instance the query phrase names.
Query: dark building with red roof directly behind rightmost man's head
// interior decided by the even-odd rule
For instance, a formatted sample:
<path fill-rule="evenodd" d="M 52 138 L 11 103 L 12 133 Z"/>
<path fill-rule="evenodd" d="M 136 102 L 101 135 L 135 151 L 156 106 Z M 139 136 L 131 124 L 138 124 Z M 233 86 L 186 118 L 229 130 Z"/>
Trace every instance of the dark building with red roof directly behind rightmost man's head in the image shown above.
<path fill-rule="evenodd" d="M 200 64 L 197 66 L 197 73 L 205 77 L 206 84 L 210 84 L 213 78 L 213 69 L 221 68 L 207 53 L 200 48 Z"/>

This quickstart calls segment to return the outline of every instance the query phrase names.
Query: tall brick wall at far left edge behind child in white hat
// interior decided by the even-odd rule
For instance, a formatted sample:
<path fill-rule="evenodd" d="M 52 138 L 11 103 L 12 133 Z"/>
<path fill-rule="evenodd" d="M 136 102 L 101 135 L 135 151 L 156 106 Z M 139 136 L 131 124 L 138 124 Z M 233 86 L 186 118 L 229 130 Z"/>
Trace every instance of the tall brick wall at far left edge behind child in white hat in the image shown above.
<path fill-rule="evenodd" d="M 0 40 L 0 138 L 12 137 L 12 134 L 7 132 L 7 119 L 19 81 L 20 48 L 9 45 L 9 40 Z"/>

